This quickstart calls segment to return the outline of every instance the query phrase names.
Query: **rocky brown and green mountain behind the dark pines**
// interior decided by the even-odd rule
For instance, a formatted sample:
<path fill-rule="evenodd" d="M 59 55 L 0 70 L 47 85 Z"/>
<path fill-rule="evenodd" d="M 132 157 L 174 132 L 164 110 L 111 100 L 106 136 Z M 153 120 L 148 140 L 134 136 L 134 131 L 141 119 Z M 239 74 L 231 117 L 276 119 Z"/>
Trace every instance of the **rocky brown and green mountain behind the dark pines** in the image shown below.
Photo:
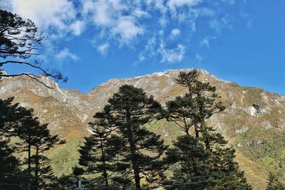
<path fill-rule="evenodd" d="M 154 95 L 162 105 L 186 89 L 172 80 L 180 71 L 167 70 L 135 78 L 110 79 L 83 94 L 79 90 L 63 90 L 49 78 L 41 77 L 46 88 L 36 80 L 25 76 L 1 78 L 0 98 L 14 97 L 14 102 L 34 109 L 41 122 L 48 122 L 53 134 L 66 139 L 48 152 L 57 175 L 68 174 L 78 159 L 78 146 L 83 137 L 90 134 L 87 123 L 95 112 L 103 108 L 108 98 L 120 85 L 130 84 Z M 208 125 L 221 132 L 229 144 L 237 149 L 237 161 L 246 171 L 254 189 L 265 189 L 268 171 L 280 171 L 285 167 L 285 96 L 269 93 L 261 88 L 242 87 L 237 83 L 217 78 L 206 70 L 199 70 L 199 80 L 216 86 L 219 100 L 227 107 L 224 112 L 213 115 Z M 171 143 L 180 130 L 173 123 L 161 120 L 147 126 L 162 134 Z M 20 155 L 23 156 L 23 155 Z M 284 178 L 285 179 L 285 178 Z"/>

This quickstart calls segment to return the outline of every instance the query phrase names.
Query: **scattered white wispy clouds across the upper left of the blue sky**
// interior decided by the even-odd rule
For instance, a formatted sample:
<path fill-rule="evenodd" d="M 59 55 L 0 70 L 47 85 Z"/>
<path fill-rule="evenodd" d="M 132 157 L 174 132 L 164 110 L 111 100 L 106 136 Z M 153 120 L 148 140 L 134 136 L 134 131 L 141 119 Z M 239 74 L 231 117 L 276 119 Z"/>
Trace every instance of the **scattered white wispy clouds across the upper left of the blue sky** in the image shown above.
<path fill-rule="evenodd" d="M 159 59 L 178 63 L 187 55 L 197 26 L 207 25 L 217 35 L 231 29 L 230 13 L 217 6 L 237 4 L 234 0 L 209 3 L 206 0 L 0 0 L 12 11 L 35 21 L 47 33 L 48 48 L 57 41 L 77 38 L 86 30 L 95 31 L 92 44 L 101 55 L 115 48 L 133 48 L 138 59 Z M 241 14 L 251 25 L 250 16 Z M 204 32 L 204 31 L 203 31 Z M 212 33 L 205 33 L 211 36 Z M 209 46 L 214 38 L 204 38 Z M 140 46 L 136 46 L 140 44 Z M 48 53 L 48 51 L 46 51 Z M 54 51 L 53 51 L 54 52 Z M 78 57 L 64 48 L 56 58 Z"/>

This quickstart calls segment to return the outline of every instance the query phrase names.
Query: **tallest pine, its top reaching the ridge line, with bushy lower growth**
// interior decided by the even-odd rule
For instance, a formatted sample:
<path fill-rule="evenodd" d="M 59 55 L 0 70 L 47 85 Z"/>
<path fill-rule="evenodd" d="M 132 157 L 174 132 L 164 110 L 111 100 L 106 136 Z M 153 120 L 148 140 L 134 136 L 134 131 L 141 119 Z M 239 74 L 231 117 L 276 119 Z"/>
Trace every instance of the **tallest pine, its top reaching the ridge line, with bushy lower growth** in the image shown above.
<path fill-rule="evenodd" d="M 185 132 L 185 136 L 178 137 L 174 148 L 167 152 L 167 160 L 171 159 L 173 150 L 178 153 L 176 160 L 179 167 L 174 172 L 172 183 L 185 182 L 190 189 L 204 189 L 209 186 L 212 189 L 251 189 L 244 171 L 234 162 L 235 150 L 226 147 L 227 141 L 222 134 L 214 132 L 212 127 L 206 125 L 209 117 L 222 112 L 225 107 L 222 102 L 216 101 L 216 88 L 209 83 L 200 82 L 198 77 L 198 70 L 181 72 L 175 82 L 187 87 L 188 92 L 166 103 L 167 120 L 174 121 Z M 193 126 L 196 141 L 190 135 Z M 170 186 L 170 189 L 181 188 Z"/>

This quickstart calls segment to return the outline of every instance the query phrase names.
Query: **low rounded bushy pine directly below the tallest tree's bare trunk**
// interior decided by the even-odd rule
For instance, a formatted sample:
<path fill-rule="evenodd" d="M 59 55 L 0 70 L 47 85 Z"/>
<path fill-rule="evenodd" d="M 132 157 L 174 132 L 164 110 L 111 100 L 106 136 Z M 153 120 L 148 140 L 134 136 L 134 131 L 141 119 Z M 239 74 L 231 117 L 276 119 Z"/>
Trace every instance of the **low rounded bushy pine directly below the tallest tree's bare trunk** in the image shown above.
<path fill-rule="evenodd" d="M 168 149 L 166 154 L 167 163 L 175 168 L 171 179 L 164 182 L 166 189 L 198 190 L 209 185 L 207 183 L 209 173 L 205 164 L 207 152 L 195 137 L 190 135 L 177 137 L 173 148 Z"/>

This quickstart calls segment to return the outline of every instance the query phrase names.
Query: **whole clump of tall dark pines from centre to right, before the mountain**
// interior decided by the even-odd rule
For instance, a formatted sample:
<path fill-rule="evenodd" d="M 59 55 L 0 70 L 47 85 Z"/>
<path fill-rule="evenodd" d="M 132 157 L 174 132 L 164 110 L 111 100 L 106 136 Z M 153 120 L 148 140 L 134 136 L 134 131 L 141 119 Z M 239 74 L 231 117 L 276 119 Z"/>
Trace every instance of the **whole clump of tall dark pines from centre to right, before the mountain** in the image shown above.
<path fill-rule="evenodd" d="M 133 184 L 135 189 L 142 185 L 165 189 L 252 189 L 234 161 L 235 150 L 227 147 L 224 137 L 205 122 L 224 107 L 215 101 L 215 88 L 197 80 L 198 75 L 197 70 L 180 73 L 175 82 L 189 91 L 167 102 L 166 110 L 152 97 L 147 99 L 142 89 L 121 86 L 103 111 L 94 115 L 91 125 L 95 134 L 86 137 L 79 149 L 79 167 L 73 173 L 81 177 L 101 173 L 99 181 L 98 176 L 88 178 L 97 181 L 86 184 L 91 188 L 124 189 Z M 144 126 L 151 119 L 163 117 L 185 133 L 169 149 L 160 136 Z M 155 120 L 148 124 L 149 128 L 153 124 Z M 167 170 L 172 170 L 170 176 Z M 141 179 L 145 179 L 144 183 Z"/>

